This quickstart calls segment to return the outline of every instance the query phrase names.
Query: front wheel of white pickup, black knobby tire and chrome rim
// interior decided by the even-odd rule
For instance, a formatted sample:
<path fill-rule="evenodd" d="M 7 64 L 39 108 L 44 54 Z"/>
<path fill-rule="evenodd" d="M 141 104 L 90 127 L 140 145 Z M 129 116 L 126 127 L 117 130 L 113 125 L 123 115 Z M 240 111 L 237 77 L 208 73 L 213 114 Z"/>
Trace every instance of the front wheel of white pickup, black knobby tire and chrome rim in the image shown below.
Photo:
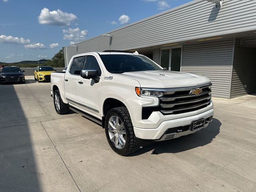
<path fill-rule="evenodd" d="M 105 132 L 108 144 L 119 155 L 126 156 L 140 148 L 126 107 L 113 108 L 107 113 Z"/>

